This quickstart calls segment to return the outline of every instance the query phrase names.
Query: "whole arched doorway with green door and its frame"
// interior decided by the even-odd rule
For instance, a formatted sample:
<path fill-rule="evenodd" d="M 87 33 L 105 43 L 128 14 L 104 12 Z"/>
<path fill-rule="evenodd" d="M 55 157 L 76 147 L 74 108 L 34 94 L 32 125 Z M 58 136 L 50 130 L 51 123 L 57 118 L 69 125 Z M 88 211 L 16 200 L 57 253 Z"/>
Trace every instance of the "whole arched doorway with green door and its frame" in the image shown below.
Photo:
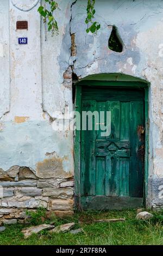
<path fill-rule="evenodd" d="M 92 75 L 76 84 L 75 106 L 80 113 L 74 139 L 76 208 L 145 204 L 148 86 L 145 80 L 123 74 Z"/>

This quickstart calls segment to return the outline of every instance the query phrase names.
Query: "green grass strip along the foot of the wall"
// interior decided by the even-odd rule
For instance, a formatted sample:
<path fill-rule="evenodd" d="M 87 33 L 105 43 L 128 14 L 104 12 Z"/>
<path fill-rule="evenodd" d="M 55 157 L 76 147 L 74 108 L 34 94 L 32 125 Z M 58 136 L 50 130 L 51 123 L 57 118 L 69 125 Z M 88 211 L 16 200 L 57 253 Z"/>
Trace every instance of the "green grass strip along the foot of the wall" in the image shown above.
<path fill-rule="evenodd" d="M 76 213 L 72 217 L 54 218 L 55 226 L 75 222 L 84 233 L 50 234 L 42 231 L 24 239 L 21 230 L 30 225 L 15 224 L 6 226 L 0 233 L 0 245 L 162 245 L 163 213 L 152 212 L 150 221 L 135 219 L 136 210 L 101 211 Z M 93 223 L 95 218 L 126 218 L 124 222 Z"/>

